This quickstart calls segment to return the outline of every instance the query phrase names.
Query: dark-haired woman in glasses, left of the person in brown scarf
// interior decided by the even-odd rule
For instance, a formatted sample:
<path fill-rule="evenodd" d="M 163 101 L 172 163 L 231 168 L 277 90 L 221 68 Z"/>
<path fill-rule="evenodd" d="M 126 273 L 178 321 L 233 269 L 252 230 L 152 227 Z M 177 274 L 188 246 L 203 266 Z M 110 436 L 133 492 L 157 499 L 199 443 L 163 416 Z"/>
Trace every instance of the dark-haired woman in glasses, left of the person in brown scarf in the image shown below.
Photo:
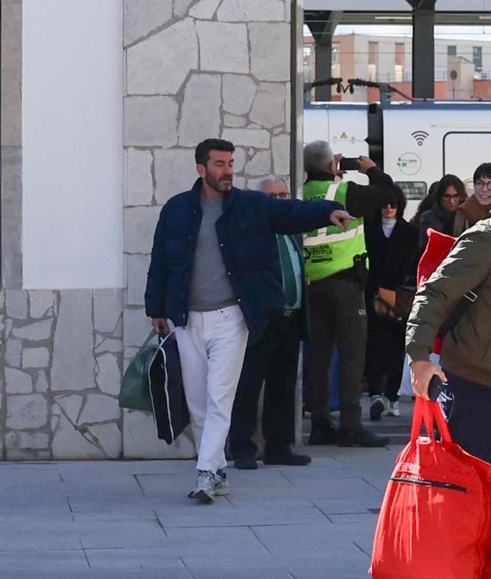
<path fill-rule="evenodd" d="M 465 185 L 456 175 L 443 175 L 434 193 L 434 205 L 421 216 L 419 247 L 422 253 L 428 243 L 429 227 L 443 234 L 454 235 L 456 211 L 468 198 Z"/>

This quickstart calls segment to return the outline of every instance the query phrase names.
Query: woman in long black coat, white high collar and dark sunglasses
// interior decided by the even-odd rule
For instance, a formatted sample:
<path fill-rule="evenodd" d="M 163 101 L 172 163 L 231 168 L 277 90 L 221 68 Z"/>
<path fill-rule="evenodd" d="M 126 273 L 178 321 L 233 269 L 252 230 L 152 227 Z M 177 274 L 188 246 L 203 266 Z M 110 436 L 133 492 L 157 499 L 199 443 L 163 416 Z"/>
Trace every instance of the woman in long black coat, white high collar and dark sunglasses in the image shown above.
<path fill-rule="evenodd" d="M 369 259 L 365 290 L 368 321 L 365 376 L 371 399 L 371 420 L 380 420 L 382 415 L 399 415 L 397 392 L 403 373 L 405 320 L 376 314 L 374 298 L 379 287 L 396 289 L 400 285 L 414 285 L 417 236 L 414 227 L 403 219 L 405 206 L 405 196 L 398 189 L 387 207 L 373 220 L 365 222 Z"/>

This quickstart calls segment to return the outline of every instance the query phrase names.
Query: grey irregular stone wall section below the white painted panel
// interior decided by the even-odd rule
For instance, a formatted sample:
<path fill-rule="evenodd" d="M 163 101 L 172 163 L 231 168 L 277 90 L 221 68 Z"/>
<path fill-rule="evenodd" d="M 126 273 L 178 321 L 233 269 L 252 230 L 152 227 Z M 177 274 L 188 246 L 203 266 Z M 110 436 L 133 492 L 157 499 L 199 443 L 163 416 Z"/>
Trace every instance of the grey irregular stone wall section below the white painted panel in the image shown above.
<path fill-rule="evenodd" d="M 0 293 L 3 457 L 122 455 L 122 289 Z"/>

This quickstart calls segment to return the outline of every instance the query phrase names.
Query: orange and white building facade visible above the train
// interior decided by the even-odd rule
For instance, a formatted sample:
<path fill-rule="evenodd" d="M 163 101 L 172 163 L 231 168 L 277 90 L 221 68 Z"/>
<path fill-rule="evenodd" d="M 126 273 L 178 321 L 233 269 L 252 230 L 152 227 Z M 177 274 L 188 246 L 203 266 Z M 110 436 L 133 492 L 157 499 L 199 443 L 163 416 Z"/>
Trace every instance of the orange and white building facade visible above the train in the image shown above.
<path fill-rule="evenodd" d="M 314 39 L 304 37 L 304 79 L 314 80 Z M 334 35 L 333 77 L 388 82 L 403 93 L 412 93 L 412 39 L 404 36 Z M 307 101 L 314 93 L 306 93 Z M 402 99 L 394 94 L 394 100 Z M 435 39 L 435 98 L 491 98 L 491 40 Z M 374 102 L 374 88 L 356 87 L 353 94 L 333 91 L 333 100 Z"/>

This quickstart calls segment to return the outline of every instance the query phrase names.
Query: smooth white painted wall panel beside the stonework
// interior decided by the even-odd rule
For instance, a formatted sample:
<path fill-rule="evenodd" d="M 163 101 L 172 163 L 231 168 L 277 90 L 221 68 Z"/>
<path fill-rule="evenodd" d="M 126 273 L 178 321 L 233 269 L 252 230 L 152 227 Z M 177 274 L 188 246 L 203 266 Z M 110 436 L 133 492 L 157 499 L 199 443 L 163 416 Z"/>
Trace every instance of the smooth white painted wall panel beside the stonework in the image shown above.
<path fill-rule="evenodd" d="M 23 285 L 121 287 L 122 1 L 23 0 Z"/>

